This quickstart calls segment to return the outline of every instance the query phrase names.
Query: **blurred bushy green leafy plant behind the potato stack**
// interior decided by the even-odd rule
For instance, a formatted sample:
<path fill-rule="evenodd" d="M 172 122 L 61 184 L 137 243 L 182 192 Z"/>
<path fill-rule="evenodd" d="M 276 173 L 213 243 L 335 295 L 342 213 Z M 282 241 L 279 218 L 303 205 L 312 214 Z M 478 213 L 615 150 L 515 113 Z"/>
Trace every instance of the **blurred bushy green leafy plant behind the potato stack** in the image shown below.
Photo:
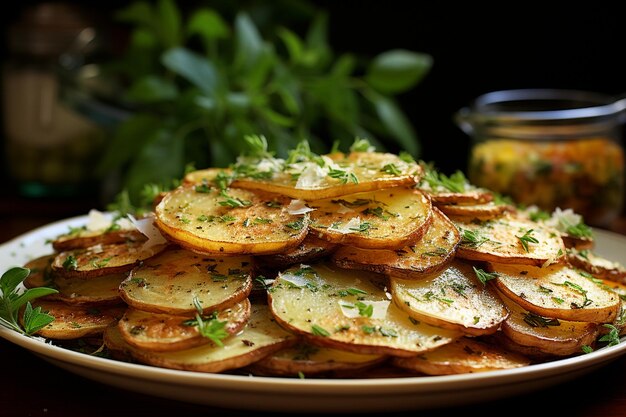
<path fill-rule="evenodd" d="M 308 27 L 297 30 L 257 23 L 245 9 L 231 18 L 180 4 L 137 1 L 117 14 L 130 25 L 130 41 L 104 69 L 120 80 L 118 101 L 131 116 L 115 129 L 98 172 L 120 174 L 127 202 L 141 204 L 145 184 L 171 188 L 186 168 L 226 166 L 251 134 L 267 137 L 278 156 L 303 139 L 322 152 L 355 137 L 420 154 L 397 96 L 428 73 L 430 55 L 337 54 L 327 13 L 314 7 Z"/>

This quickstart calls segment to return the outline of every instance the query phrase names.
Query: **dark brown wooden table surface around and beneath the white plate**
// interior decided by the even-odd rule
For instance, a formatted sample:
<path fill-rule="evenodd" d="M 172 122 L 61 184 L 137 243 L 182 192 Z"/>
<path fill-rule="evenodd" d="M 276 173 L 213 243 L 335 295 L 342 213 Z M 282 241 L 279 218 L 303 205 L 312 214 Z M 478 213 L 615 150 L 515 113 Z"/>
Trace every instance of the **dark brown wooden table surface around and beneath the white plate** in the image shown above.
<path fill-rule="evenodd" d="M 39 207 L 40 210 L 33 210 L 23 208 L 16 202 L 0 202 L 0 243 L 53 220 L 86 213 L 80 206 Z M 237 410 L 237 404 L 233 404 L 233 409 L 218 409 L 104 385 L 64 371 L 1 338 L 0 369 L 2 417 L 270 415 Z M 245 402 L 245 398 L 241 401 Z M 463 412 L 482 417 L 501 417 L 507 411 L 527 416 L 626 416 L 626 356 L 557 386 L 463 407 L 431 409 L 421 415 L 452 416 Z M 388 415 L 415 416 L 417 413 L 419 411 L 411 410 Z"/>

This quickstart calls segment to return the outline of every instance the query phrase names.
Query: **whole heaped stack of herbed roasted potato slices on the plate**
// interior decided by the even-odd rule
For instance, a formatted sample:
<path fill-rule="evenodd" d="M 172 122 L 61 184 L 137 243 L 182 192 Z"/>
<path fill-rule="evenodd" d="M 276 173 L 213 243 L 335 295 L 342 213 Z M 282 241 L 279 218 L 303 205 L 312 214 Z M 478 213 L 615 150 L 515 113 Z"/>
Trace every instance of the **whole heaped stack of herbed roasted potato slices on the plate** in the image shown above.
<path fill-rule="evenodd" d="M 560 230 L 363 140 L 281 159 L 247 139 L 149 215 L 98 218 L 27 264 L 27 286 L 59 290 L 39 334 L 173 369 L 363 378 L 517 368 L 624 332 L 626 274 L 582 219 Z"/>

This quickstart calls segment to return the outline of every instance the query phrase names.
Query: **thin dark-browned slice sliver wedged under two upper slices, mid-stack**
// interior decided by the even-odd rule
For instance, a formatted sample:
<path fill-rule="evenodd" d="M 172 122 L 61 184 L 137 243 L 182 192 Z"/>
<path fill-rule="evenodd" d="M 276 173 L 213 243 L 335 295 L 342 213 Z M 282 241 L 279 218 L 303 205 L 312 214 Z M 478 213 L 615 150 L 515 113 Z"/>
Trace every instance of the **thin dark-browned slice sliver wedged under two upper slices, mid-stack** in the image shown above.
<path fill-rule="evenodd" d="M 265 267 L 284 268 L 298 263 L 310 263 L 330 255 L 338 245 L 308 234 L 297 247 L 283 253 L 259 255 L 256 259 Z"/>

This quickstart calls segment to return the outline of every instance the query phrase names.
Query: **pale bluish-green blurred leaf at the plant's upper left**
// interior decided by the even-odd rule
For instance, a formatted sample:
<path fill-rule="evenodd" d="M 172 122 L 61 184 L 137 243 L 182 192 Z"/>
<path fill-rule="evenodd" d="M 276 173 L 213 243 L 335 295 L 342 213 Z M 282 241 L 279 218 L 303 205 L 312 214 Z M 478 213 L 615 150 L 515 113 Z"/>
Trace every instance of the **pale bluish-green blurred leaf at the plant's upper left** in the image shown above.
<path fill-rule="evenodd" d="M 203 93 L 213 96 L 218 84 L 218 72 L 212 62 L 189 49 L 178 47 L 165 51 L 161 62 Z"/>

